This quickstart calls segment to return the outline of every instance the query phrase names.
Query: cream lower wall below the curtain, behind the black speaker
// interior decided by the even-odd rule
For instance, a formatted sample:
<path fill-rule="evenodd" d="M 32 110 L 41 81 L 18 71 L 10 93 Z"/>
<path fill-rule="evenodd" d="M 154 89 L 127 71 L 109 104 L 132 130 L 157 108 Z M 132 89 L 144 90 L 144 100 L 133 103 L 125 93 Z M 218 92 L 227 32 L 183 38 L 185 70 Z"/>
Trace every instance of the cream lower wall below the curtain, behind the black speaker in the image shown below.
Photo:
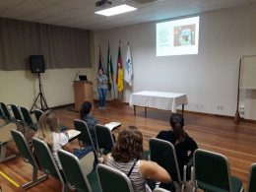
<path fill-rule="evenodd" d="M 73 81 L 79 71 L 89 79 L 95 76 L 92 68 L 50 69 L 41 74 L 48 107 L 74 103 Z M 37 74 L 31 71 L 0 71 L 0 100 L 6 104 L 14 103 L 31 109 L 38 88 Z M 37 105 L 40 106 L 39 102 Z"/>

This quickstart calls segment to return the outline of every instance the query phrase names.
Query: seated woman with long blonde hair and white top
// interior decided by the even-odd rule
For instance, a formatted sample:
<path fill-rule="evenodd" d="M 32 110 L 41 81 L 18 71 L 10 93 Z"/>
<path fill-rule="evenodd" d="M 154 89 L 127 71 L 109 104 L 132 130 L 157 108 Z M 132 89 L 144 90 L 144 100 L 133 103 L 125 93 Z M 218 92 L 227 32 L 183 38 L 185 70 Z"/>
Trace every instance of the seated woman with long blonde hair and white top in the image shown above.
<path fill-rule="evenodd" d="M 58 168 L 62 170 L 62 166 L 58 158 L 57 152 L 63 149 L 73 154 L 74 149 L 69 143 L 69 137 L 67 133 L 60 132 L 59 119 L 55 112 L 53 112 L 52 110 L 47 110 L 40 116 L 38 122 L 38 129 L 37 132 L 34 134 L 34 137 L 44 141 L 48 145 L 52 153 L 52 157 L 56 161 Z M 87 150 L 87 152 L 94 152 L 94 149 L 92 147 L 90 148 Z M 94 163 L 94 166 L 96 166 L 96 160 L 94 161 L 95 162 L 92 161 L 92 164 Z M 83 164 L 88 162 L 85 162 L 85 160 L 83 161 L 83 159 L 81 159 L 81 163 Z"/>

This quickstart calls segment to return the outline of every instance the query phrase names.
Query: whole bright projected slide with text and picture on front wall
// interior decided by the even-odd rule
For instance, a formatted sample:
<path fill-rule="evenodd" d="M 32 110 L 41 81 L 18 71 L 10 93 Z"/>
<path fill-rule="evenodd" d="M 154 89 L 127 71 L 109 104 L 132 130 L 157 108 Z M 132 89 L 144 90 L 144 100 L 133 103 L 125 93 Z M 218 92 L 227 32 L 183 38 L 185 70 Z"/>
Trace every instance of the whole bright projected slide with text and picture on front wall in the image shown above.
<path fill-rule="evenodd" d="M 157 56 L 198 54 L 199 17 L 157 24 Z"/>

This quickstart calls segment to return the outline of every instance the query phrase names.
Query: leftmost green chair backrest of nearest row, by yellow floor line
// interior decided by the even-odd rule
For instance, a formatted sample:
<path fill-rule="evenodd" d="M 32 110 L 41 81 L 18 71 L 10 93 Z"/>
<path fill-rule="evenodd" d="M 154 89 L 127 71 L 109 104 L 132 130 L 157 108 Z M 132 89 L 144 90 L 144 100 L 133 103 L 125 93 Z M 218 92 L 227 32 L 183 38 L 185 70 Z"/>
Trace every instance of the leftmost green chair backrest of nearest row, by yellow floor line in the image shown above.
<path fill-rule="evenodd" d="M 38 164 L 33 158 L 32 150 L 28 145 L 24 135 L 20 131 L 14 129 L 11 130 L 11 134 L 23 160 L 25 162 L 31 163 L 32 166 L 35 166 L 37 169 L 39 169 Z"/>

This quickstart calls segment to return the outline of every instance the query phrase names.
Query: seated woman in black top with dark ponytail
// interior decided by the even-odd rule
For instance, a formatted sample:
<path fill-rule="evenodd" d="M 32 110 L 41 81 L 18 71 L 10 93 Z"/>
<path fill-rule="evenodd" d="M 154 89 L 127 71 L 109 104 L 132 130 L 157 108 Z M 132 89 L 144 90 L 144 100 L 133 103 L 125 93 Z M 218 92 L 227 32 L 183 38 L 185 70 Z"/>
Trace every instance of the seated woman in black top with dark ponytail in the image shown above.
<path fill-rule="evenodd" d="M 172 130 L 160 131 L 157 138 L 168 141 L 174 146 L 182 179 L 183 166 L 189 160 L 192 160 L 193 153 L 198 147 L 196 142 L 189 137 L 184 127 L 184 118 L 181 114 L 171 113 L 169 124 Z M 188 155 L 188 152 L 190 152 L 190 155 Z"/>

